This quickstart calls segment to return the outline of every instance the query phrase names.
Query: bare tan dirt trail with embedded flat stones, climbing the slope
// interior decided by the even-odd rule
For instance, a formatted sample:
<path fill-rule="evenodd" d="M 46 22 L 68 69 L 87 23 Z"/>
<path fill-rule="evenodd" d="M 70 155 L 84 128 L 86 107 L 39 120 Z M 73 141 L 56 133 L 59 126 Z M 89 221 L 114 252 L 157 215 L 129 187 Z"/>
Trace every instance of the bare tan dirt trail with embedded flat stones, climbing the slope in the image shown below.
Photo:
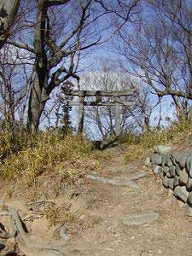
<path fill-rule="evenodd" d="M 125 165 L 124 152 L 113 150 L 115 157 L 103 160 L 101 171 L 87 173 L 81 193 L 70 197 L 71 211 L 78 212 L 71 224 L 55 227 L 44 216 L 27 218 L 22 201 L 8 202 L 20 212 L 33 247 L 59 247 L 68 256 L 191 256 L 192 223 L 183 205 L 168 195 L 160 178 L 144 169 L 142 161 Z M 62 195 L 56 200 L 62 201 Z M 0 218 L 3 224 L 7 221 L 6 216 Z M 24 255 L 24 251 L 6 254 L 5 249 L 1 255 Z M 54 253 L 26 255 L 61 255 Z"/>

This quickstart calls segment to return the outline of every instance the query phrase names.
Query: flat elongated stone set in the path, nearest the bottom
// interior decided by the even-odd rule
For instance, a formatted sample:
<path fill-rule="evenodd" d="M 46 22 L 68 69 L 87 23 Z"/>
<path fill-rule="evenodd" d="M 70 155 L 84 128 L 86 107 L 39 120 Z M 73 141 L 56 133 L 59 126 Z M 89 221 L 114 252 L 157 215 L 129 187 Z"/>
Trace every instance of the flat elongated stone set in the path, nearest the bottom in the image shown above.
<path fill-rule="evenodd" d="M 144 214 L 131 214 L 131 215 L 126 215 L 123 218 L 123 224 L 127 226 L 137 226 L 141 224 L 147 224 L 147 223 L 152 223 L 156 220 L 158 220 L 160 214 L 158 212 L 148 212 Z"/>

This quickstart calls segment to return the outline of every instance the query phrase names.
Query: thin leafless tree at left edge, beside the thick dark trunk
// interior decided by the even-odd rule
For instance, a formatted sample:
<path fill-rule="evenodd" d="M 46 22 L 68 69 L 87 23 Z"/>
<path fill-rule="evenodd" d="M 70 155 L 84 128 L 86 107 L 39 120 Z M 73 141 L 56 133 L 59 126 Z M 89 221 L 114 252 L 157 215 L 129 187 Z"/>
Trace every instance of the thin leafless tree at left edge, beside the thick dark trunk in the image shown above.
<path fill-rule="evenodd" d="M 4 47 L 0 56 L 0 119 L 13 129 L 24 122 L 29 92 L 27 65 L 20 50 Z"/>

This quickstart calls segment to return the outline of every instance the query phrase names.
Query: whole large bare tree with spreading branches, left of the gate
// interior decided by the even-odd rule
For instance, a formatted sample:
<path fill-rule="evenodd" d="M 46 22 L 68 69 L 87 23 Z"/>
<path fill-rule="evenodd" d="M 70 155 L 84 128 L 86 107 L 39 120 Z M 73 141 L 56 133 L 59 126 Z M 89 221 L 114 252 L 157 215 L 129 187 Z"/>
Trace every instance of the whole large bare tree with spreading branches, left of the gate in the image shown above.
<path fill-rule="evenodd" d="M 39 119 L 46 102 L 55 87 L 77 75 L 82 51 L 103 44 L 113 36 L 125 22 L 132 21 L 134 9 L 139 1 L 127 1 L 127 10 L 121 16 L 120 1 L 73 1 L 73 0 L 38 0 L 32 1 L 31 19 L 23 15 L 18 26 L 25 28 L 30 38 L 15 36 L 9 44 L 25 49 L 35 57 L 34 79 L 29 98 L 28 127 L 37 130 Z M 26 8 L 27 9 L 27 8 Z M 112 30 L 107 15 L 117 15 L 115 29 Z M 36 20 L 34 17 L 36 16 Z M 104 16 L 106 19 L 104 20 Z M 102 21 L 102 22 L 100 22 Z M 33 33 L 34 29 L 34 33 Z M 106 32 L 108 30 L 108 32 Z M 102 38 L 102 34 L 104 38 Z M 19 40 L 18 40 L 19 38 Z"/>

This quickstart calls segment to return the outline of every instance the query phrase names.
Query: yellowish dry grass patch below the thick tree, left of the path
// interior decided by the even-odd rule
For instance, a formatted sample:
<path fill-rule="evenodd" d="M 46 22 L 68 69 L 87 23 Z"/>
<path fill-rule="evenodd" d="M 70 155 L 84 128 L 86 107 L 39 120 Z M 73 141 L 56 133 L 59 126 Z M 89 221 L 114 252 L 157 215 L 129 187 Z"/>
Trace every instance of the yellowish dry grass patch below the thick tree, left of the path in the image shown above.
<path fill-rule="evenodd" d="M 78 169 L 86 168 L 92 152 L 91 143 L 81 136 L 62 137 L 49 132 L 35 137 L 0 134 L 0 141 L 1 176 L 7 180 L 19 177 L 29 186 L 42 173 L 55 172 L 55 179 L 70 180 Z"/>

